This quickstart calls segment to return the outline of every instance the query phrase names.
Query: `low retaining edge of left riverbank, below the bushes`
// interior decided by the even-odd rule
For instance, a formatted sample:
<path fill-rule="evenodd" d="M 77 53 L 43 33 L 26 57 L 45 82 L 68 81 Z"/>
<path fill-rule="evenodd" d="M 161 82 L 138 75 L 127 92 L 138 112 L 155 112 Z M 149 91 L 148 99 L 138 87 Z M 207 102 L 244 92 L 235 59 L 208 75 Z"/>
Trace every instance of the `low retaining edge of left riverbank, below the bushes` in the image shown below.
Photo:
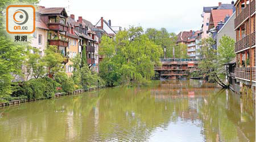
<path fill-rule="evenodd" d="M 105 86 L 90 87 L 90 88 L 88 88 L 88 90 L 79 89 L 79 90 L 73 91 L 72 93 L 56 93 L 54 95 L 54 97 L 52 97 L 52 98 L 58 98 L 58 97 L 65 96 L 65 95 L 82 94 L 86 91 L 94 91 L 94 90 L 99 90 L 101 88 L 105 88 Z M 52 98 L 46 98 L 46 99 L 52 99 Z M 16 105 L 16 104 L 31 102 L 31 101 L 38 101 L 38 100 L 42 100 L 42 98 L 41 99 L 18 99 L 18 100 L 14 100 L 14 101 L 10 101 L 10 102 L 0 103 L 0 107 Z"/>

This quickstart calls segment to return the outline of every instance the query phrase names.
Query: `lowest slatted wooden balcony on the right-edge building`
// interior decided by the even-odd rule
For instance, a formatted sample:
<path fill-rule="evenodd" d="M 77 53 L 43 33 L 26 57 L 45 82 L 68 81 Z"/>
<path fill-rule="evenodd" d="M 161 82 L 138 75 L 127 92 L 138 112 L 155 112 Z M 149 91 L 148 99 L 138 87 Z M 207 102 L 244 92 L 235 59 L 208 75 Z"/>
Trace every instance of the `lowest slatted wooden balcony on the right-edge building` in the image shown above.
<path fill-rule="evenodd" d="M 252 80 L 255 81 L 255 67 L 251 68 Z M 250 80 L 250 68 L 235 68 L 236 77 Z"/>

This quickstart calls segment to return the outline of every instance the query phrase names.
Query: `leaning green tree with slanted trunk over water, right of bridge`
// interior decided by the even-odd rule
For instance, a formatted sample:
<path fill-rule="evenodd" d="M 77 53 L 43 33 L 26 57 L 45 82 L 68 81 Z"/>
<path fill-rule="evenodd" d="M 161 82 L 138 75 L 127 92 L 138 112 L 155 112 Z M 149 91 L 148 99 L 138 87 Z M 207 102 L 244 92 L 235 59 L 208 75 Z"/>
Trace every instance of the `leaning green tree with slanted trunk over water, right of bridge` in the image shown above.
<path fill-rule="evenodd" d="M 228 86 L 222 81 L 223 78 L 221 78 L 223 66 L 220 64 L 220 61 L 222 59 L 217 55 L 216 49 L 212 47 L 213 44 L 215 44 L 215 41 L 211 37 L 201 41 L 200 55 L 202 59 L 199 62 L 199 69 L 208 81 L 217 82 L 218 85 L 227 88 Z"/>

